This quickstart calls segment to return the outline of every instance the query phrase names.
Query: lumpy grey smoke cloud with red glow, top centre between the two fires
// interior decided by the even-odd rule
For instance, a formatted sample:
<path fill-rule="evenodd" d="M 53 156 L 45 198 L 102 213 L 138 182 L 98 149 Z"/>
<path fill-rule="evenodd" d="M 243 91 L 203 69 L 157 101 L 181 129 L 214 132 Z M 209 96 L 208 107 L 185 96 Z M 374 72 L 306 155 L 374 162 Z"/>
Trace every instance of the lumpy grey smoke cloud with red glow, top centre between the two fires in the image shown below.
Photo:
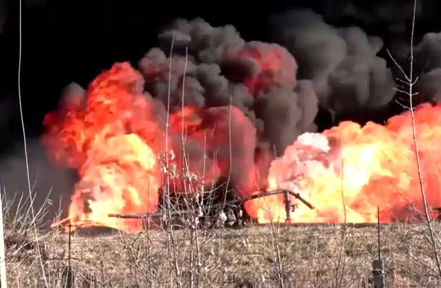
<path fill-rule="evenodd" d="M 146 90 L 165 104 L 171 76 L 172 107 L 182 101 L 200 108 L 232 104 L 257 128 L 258 145 L 268 142 L 276 154 L 299 134 L 315 130 L 312 84 L 297 81 L 298 65 L 285 48 L 246 42 L 233 26 L 212 27 L 200 18 L 175 21 L 160 40 L 162 50 L 150 50 L 139 67 Z M 169 75 L 166 53 L 172 44 Z"/>

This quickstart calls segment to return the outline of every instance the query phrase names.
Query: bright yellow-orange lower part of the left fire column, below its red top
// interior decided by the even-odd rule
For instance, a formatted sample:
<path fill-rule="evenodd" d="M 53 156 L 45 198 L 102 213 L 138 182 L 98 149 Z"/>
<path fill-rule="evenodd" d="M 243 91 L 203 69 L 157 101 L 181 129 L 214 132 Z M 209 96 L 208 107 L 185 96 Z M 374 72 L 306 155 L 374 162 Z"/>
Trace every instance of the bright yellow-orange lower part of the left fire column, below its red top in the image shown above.
<path fill-rule="evenodd" d="M 116 135 L 96 145 L 99 147 L 91 148 L 94 155 L 84 163 L 84 176 L 72 195 L 70 224 L 73 229 L 102 225 L 140 231 L 138 220 L 109 218 L 108 214 L 142 214 L 157 209 L 160 187 L 154 176 L 158 164 L 154 152 L 136 134 Z"/>

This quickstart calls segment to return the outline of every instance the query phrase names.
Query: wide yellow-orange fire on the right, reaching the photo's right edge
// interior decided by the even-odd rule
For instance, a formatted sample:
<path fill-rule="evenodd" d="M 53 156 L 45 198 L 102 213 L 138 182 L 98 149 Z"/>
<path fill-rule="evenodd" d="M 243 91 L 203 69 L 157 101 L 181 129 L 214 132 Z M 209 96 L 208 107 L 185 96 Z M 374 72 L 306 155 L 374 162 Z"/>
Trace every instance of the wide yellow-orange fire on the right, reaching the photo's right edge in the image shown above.
<path fill-rule="evenodd" d="M 441 204 L 441 105 L 415 110 L 422 186 L 430 207 Z M 333 143 L 331 143 L 333 142 Z M 352 122 L 321 134 L 305 133 L 271 163 L 269 189 L 299 190 L 313 203 L 290 215 L 298 223 L 375 223 L 418 219 L 424 211 L 410 111 L 386 126 Z M 292 199 L 295 201 L 294 199 Z M 282 195 L 247 202 L 260 222 L 285 221 Z M 270 208 L 270 209 L 268 209 Z M 430 211 L 430 216 L 434 213 Z"/>

